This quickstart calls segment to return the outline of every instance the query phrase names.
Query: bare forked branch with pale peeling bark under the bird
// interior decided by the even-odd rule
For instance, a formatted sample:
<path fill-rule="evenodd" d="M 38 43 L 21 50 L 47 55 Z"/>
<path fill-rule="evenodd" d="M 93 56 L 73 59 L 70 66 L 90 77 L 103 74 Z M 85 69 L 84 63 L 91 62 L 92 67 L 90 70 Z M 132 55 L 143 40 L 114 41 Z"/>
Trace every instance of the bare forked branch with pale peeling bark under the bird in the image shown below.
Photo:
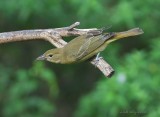
<path fill-rule="evenodd" d="M 49 41 L 57 48 L 61 48 L 67 44 L 63 40 L 63 37 L 67 36 L 79 36 L 83 34 L 98 35 L 102 33 L 102 29 L 77 29 L 76 26 L 80 25 L 80 22 L 75 22 L 68 27 L 54 28 L 54 29 L 39 29 L 39 30 L 22 30 L 13 32 L 0 33 L 0 44 L 14 41 L 25 41 L 34 39 L 43 39 Z M 112 76 L 114 73 L 113 68 L 101 57 L 98 61 L 93 59 L 91 64 L 96 66 L 107 77 Z"/>

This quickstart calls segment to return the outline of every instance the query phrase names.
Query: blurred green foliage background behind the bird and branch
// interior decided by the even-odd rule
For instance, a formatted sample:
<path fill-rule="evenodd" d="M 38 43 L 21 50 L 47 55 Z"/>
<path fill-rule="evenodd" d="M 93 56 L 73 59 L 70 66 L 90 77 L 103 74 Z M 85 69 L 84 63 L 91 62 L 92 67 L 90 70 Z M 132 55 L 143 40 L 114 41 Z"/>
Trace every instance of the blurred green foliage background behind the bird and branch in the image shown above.
<path fill-rule="evenodd" d="M 116 71 L 111 79 L 87 62 L 35 61 L 53 47 L 42 40 L 1 44 L 0 117 L 160 116 L 159 11 L 160 0 L 0 0 L 0 32 L 75 21 L 145 32 L 101 53 Z"/>

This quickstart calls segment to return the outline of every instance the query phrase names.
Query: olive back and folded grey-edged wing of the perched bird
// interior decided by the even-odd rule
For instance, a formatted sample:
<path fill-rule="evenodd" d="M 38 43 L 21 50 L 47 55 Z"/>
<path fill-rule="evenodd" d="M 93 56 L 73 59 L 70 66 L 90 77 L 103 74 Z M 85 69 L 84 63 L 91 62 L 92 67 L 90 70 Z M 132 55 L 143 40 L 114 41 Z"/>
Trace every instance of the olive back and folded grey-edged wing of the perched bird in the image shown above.
<path fill-rule="evenodd" d="M 64 54 L 66 59 L 71 61 L 77 61 L 89 55 L 91 52 L 99 48 L 106 39 L 110 38 L 108 34 L 105 35 L 82 35 L 71 40 L 64 47 Z"/>

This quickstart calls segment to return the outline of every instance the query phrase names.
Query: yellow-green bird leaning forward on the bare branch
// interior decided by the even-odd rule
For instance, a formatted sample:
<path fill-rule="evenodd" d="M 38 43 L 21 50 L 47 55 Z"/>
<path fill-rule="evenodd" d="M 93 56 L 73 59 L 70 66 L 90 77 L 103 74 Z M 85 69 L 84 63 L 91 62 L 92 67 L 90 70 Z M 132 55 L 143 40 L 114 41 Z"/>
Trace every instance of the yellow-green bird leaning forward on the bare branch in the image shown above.
<path fill-rule="evenodd" d="M 103 51 L 111 42 L 124 37 L 142 34 L 140 28 L 134 28 L 124 32 L 110 32 L 99 35 L 81 35 L 71 40 L 63 48 L 46 51 L 37 60 L 47 60 L 52 63 L 69 64 L 85 61 L 95 57 Z"/>

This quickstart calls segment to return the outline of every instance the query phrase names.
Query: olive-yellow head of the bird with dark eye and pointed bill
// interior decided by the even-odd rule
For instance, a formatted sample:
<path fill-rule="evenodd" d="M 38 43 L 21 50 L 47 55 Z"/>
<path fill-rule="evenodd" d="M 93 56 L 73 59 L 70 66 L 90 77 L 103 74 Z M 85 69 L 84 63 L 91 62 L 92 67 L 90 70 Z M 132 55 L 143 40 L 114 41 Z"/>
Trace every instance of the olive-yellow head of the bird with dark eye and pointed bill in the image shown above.
<path fill-rule="evenodd" d="M 36 60 L 46 60 L 52 63 L 61 63 L 62 59 L 61 52 L 62 52 L 61 48 L 50 49 L 41 56 L 39 56 Z"/>

